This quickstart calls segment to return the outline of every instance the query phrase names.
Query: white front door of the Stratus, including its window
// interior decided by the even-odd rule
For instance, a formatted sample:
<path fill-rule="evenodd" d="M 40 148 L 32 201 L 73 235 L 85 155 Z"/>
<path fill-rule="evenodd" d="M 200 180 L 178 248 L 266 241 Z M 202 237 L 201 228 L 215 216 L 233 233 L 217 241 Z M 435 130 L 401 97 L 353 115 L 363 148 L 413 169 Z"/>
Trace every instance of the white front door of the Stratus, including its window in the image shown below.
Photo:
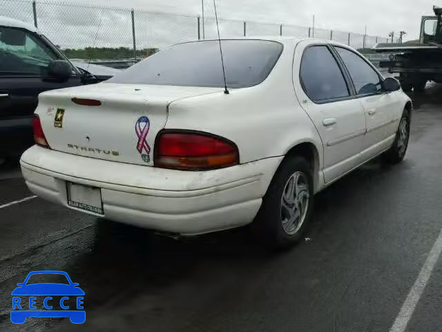
<path fill-rule="evenodd" d="M 365 111 L 367 133 L 364 142 L 364 158 L 372 158 L 390 146 L 398 127 L 398 107 L 401 104 L 395 93 L 383 90 L 383 78 L 372 64 L 353 50 L 336 47 L 352 78 L 358 100 Z"/>

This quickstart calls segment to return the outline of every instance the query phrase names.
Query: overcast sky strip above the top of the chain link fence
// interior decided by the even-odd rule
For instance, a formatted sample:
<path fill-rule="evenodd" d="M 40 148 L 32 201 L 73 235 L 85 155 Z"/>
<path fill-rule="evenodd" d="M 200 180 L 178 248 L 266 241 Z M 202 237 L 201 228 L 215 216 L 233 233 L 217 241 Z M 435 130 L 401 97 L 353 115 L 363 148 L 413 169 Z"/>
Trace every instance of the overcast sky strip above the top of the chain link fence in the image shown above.
<path fill-rule="evenodd" d="M 90 3 L 88 0 L 77 0 Z M 95 0 L 107 6 L 200 15 L 201 0 Z M 218 15 L 227 19 L 248 19 L 316 26 L 387 37 L 390 31 L 405 30 L 407 39 L 417 39 L 421 16 L 433 15 L 432 6 L 442 0 L 217 0 Z M 204 0 L 206 15 L 213 15 L 213 2 Z"/>

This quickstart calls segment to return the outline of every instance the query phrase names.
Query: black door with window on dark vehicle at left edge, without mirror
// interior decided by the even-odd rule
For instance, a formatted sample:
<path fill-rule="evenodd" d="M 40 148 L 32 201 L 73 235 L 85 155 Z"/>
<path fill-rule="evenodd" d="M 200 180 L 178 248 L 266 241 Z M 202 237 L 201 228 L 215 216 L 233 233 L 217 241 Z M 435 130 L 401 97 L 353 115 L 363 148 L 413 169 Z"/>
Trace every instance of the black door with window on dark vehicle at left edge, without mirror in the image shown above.
<path fill-rule="evenodd" d="M 73 69 L 66 82 L 50 79 L 46 68 L 64 59 L 30 31 L 0 26 L 0 154 L 20 154 L 32 145 L 32 113 L 39 93 L 81 84 Z"/>

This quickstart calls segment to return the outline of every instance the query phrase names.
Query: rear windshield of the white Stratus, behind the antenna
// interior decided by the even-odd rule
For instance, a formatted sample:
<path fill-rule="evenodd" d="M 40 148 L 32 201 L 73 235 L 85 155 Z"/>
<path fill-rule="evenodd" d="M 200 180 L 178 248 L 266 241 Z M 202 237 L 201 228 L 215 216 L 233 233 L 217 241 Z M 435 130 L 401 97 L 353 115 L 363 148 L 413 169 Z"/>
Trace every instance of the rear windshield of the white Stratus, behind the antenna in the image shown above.
<path fill-rule="evenodd" d="M 222 40 L 229 88 L 260 84 L 282 52 L 282 44 L 266 40 Z M 223 87 L 218 41 L 178 44 L 118 73 L 109 83 Z"/>

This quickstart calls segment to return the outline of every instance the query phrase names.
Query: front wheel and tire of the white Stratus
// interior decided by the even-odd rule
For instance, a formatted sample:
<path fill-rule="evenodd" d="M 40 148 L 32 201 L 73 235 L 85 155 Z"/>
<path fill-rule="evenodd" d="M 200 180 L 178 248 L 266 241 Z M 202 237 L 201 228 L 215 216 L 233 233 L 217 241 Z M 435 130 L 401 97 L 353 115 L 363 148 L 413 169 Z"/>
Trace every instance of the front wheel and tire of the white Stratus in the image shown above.
<path fill-rule="evenodd" d="M 404 132 L 405 131 L 405 132 Z M 383 160 L 389 164 L 401 163 L 407 153 L 408 142 L 410 140 L 410 111 L 405 109 L 399 122 L 396 138 L 392 147 L 383 154 Z"/>

